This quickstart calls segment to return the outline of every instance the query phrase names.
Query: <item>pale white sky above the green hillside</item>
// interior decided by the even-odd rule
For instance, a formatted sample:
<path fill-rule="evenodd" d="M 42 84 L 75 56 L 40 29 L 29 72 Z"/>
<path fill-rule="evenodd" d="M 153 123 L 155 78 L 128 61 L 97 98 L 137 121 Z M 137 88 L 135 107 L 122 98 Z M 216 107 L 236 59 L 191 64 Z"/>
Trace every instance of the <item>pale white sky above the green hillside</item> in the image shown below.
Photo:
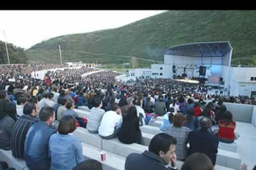
<path fill-rule="evenodd" d="M 0 41 L 28 49 L 56 36 L 118 28 L 165 11 L 0 10 Z"/>

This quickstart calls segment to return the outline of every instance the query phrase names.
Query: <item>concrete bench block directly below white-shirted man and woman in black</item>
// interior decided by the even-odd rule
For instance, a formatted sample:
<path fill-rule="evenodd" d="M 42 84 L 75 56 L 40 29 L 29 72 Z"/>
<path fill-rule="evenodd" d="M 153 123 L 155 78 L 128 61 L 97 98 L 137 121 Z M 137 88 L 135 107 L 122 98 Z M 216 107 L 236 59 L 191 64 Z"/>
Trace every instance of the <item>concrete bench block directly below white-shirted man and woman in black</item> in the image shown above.
<path fill-rule="evenodd" d="M 139 144 L 122 144 L 117 138 L 102 140 L 102 149 L 120 156 L 128 156 L 130 153 L 142 153 L 148 147 Z"/>

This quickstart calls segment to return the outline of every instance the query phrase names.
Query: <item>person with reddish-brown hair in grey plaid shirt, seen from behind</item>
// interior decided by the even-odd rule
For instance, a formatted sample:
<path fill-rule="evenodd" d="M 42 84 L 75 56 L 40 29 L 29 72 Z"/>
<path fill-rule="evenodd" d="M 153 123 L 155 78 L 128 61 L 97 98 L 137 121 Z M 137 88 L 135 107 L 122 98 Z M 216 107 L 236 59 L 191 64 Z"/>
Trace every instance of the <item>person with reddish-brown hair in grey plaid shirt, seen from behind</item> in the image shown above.
<path fill-rule="evenodd" d="M 176 155 L 177 160 L 184 161 L 187 158 L 187 137 L 190 129 L 184 127 L 186 118 L 182 113 L 177 113 L 173 117 L 173 124 L 166 127 L 166 133 L 175 137 L 177 140 Z"/>

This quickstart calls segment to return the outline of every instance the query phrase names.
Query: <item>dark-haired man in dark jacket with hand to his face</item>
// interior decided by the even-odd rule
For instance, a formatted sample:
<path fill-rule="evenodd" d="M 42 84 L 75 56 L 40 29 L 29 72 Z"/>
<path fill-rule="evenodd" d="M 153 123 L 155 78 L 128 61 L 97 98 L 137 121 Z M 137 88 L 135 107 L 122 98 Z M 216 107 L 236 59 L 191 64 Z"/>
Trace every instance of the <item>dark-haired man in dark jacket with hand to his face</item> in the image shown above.
<path fill-rule="evenodd" d="M 127 156 L 125 170 L 177 169 L 176 143 L 176 139 L 166 133 L 157 134 L 151 139 L 148 151 Z"/>

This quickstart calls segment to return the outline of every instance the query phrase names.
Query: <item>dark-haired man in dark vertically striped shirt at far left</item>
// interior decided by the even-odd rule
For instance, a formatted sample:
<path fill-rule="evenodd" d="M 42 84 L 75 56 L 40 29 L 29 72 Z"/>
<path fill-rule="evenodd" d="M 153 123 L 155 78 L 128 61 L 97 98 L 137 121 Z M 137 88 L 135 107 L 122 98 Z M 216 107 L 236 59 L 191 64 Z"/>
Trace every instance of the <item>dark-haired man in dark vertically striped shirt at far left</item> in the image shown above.
<path fill-rule="evenodd" d="M 23 115 L 20 116 L 12 129 L 11 148 L 15 158 L 24 158 L 24 145 L 28 130 L 38 121 L 38 105 L 28 102 L 24 105 Z"/>

